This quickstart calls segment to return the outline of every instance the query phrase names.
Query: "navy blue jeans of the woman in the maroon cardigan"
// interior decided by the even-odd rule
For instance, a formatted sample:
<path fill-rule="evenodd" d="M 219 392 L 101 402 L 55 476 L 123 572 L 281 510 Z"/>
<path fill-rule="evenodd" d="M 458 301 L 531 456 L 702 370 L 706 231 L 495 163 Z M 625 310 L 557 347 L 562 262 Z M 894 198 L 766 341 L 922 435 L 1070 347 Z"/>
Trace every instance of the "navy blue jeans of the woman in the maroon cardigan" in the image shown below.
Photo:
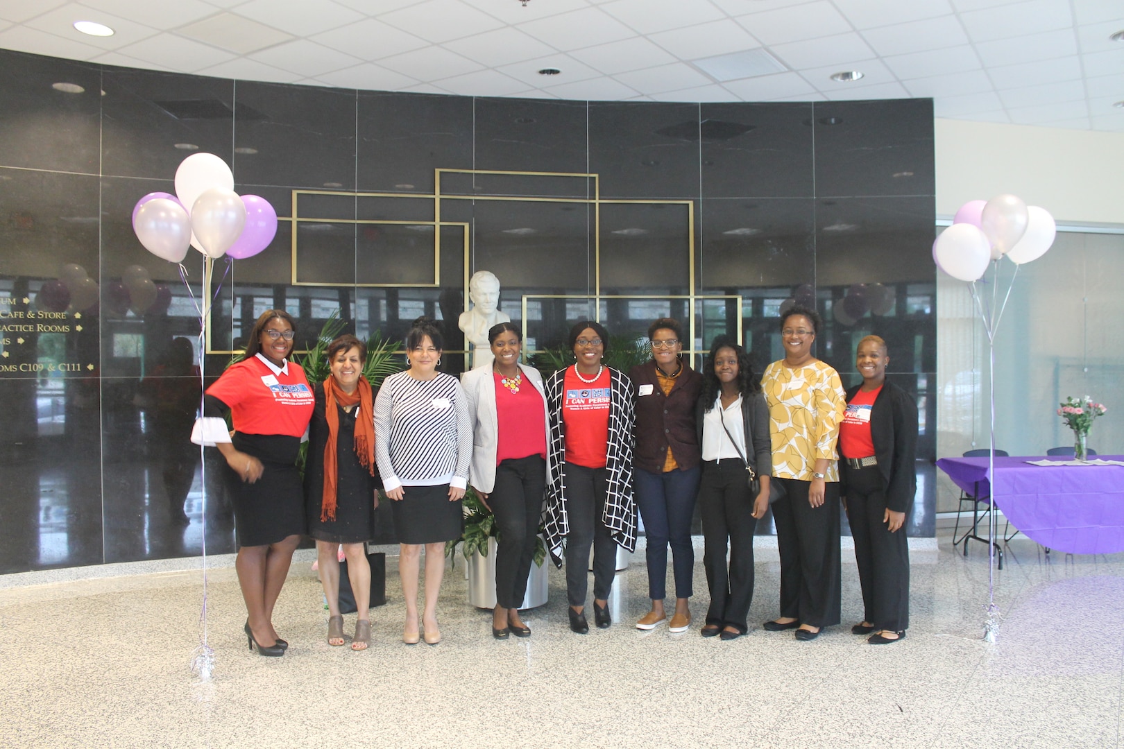
<path fill-rule="evenodd" d="M 662 601 L 668 595 L 668 545 L 676 576 L 676 597 L 691 597 L 695 573 L 695 547 L 691 546 L 691 517 L 698 494 L 701 468 L 676 468 L 654 474 L 636 468 L 633 488 L 647 537 L 647 597 Z"/>

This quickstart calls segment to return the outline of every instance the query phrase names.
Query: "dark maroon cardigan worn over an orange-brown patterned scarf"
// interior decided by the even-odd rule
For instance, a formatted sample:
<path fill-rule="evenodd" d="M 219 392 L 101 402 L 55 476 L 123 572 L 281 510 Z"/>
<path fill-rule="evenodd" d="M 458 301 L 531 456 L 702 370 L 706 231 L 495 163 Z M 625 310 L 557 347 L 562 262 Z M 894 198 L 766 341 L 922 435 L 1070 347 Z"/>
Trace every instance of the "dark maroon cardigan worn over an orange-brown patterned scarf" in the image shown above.
<path fill-rule="evenodd" d="M 655 373 L 655 362 L 638 364 L 628 373 L 633 383 L 633 400 L 636 404 L 636 449 L 633 465 L 649 473 L 663 473 L 668 448 L 676 456 L 676 464 L 682 468 L 694 468 L 701 462 L 703 448 L 698 444 L 695 427 L 695 402 L 703 390 L 703 375 L 683 362 L 683 371 L 667 395 L 660 389 Z M 641 395 L 640 386 L 651 385 L 650 395 Z"/>

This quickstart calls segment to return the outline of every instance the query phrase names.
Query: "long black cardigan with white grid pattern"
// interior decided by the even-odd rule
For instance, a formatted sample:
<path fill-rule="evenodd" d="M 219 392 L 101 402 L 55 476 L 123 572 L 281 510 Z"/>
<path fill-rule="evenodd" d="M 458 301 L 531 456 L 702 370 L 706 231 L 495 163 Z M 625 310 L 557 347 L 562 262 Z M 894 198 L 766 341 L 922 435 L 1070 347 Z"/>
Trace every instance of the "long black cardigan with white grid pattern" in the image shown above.
<path fill-rule="evenodd" d="M 554 564 L 562 566 L 562 540 L 570 533 L 565 497 L 565 426 L 562 422 L 562 399 L 566 368 L 559 369 L 546 381 L 546 410 L 550 412 L 550 464 L 558 466 L 546 485 L 546 510 L 543 513 L 546 548 Z M 601 522 L 613 540 L 628 551 L 636 550 L 636 502 L 632 491 L 633 423 L 632 381 L 617 369 L 609 369 L 609 437 L 605 467 L 609 472 L 608 497 Z"/>

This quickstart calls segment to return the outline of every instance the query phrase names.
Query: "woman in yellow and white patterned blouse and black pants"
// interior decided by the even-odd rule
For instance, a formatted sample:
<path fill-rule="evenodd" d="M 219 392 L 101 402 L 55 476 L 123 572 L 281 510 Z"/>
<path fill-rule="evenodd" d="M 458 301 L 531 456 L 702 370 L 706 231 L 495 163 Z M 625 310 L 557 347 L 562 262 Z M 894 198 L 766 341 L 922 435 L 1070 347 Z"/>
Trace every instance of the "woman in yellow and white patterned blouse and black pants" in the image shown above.
<path fill-rule="evenodd" d="M 780 616 L 769 631 L 814 640 L 840 623 L 840 490 L 835 441 L 846 409 L 839 373 L 812 355 L 815 310 L 780 319 L 785 358 L 761 377 L 772 437 L 772 475 L 785 494 L 772 505 L 780 550 Z"/>

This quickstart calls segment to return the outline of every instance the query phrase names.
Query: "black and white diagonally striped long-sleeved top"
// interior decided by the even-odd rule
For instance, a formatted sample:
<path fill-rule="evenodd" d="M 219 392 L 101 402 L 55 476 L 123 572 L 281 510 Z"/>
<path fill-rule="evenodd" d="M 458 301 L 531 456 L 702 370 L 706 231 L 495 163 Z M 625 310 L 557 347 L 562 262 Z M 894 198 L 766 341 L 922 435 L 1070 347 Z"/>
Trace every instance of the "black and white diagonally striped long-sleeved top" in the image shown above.
<path fill-rule="evenodd" d="M 374 459 L 384 491 L 469 484 L 472 424 L 456 377 L 387 377 L 374 399 Z"/>

